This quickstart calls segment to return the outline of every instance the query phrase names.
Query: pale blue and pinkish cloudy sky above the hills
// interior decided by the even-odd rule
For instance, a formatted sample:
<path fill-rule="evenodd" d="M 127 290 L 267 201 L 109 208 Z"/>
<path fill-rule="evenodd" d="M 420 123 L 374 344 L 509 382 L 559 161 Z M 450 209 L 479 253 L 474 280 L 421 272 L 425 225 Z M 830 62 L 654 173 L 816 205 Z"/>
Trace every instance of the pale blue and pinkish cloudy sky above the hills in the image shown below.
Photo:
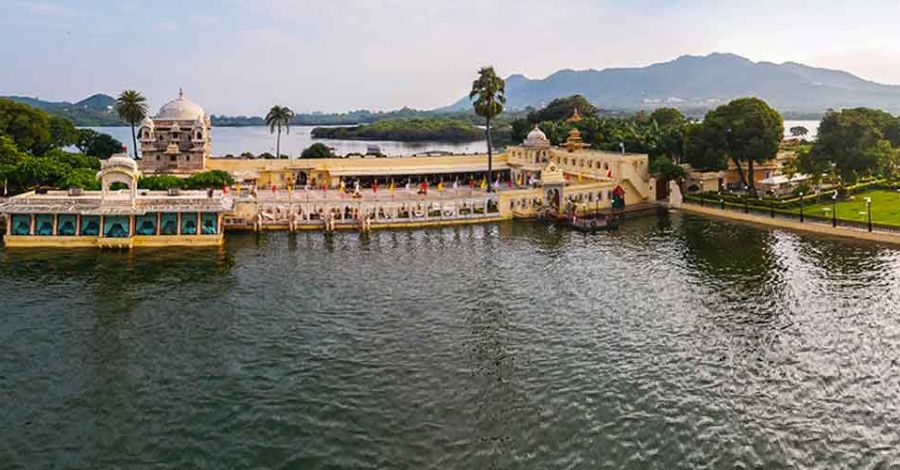
<path fill-rule="evenodd" d="M 485 65 L 542 78 L 711 52 L 900 84 L 897 18 L 896 0 L 0 0 L 0 95 L 430 109 Z"/>

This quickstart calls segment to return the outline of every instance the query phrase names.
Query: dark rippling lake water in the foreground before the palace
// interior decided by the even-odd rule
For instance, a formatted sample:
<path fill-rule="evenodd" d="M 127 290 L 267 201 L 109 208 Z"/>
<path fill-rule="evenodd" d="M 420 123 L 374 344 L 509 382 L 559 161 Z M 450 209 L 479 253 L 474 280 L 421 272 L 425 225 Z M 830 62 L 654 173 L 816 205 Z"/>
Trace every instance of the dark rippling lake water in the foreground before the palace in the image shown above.
<path fill-rule="evenodd" d="M 0 468 L 888 468 L 900 251 L 683 214 L 0 250 Z"/>

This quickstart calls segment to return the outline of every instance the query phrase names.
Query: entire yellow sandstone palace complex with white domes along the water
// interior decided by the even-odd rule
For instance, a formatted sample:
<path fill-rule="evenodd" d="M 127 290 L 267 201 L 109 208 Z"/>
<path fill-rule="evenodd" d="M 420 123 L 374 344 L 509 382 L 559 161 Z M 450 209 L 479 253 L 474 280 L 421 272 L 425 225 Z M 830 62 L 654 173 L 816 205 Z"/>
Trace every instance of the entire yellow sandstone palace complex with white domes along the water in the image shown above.
<path fill-rule="evenodd" d="M 572 119 L 579 119 L 577 111 Z M 190 129 L 187 129 L 187 128 Z M 183 132 L 187 129 L 187 133 Z M 576 129 L 559 147 L 540 129 L 487 155 L 257 160 L 208 156 L 205 112 L 183 95 L 140 130 L 144 160 L 104 162 L 101 191 L 26 193 L 0 205 L 7 246 L 218 245 L 227 229 L 370 230 L 652 207 L 648 157 L 590 150 Z M 149 159 L 149 160 L 148 160 Z M 140 166 L 140 168 L 138 167 Z M 222 170 L 216 191 L 145 191 L 143 174 Z M 113 190 L 120 183 L 124 190 Z"/>

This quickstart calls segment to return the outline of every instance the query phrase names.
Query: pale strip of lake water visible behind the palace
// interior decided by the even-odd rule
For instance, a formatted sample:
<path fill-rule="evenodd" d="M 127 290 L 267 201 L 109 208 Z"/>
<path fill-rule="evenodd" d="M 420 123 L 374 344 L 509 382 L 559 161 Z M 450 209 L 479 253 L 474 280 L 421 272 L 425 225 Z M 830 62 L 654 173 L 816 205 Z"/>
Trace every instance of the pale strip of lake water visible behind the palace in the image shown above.
<path fill-rule="evenodd" d="M 485 141 L 459 144 L 446 142 L 313 139 L 312 130 L 314 127 L 291 126 L 290 134 L 282 133 L 281 153 L 299 156 L 303 149 L 316 142 L 322 142 L 329 147 L 333 147 L 338 155 L 346 155 L 351 152 L 364 154 L 370 145 L 378 145 L 381 147 L 381 151 L 388 156 L 413 155 L 432 150 L 443 150 L 453 153 L 484 153 L 487 151 Z M 92 127 L 91 129 L 109 134 L 131 148 L 130 127 Z M 259 155 L 263 152 L 275 154 L 275 135 L 269 132 L 268 127 L 213 127 L 212 138 L 213 156 L 225 156 L 229 153 L 238 156 L 244 152 L 251 152 L 254 155 Z"/>

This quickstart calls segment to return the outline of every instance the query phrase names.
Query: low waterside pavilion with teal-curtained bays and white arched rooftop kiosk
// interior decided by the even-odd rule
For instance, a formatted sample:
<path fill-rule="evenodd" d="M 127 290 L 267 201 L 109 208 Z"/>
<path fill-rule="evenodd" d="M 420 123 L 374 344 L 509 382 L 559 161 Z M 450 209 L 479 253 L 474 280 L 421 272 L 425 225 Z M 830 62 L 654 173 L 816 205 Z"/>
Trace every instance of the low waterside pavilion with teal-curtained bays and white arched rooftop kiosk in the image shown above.
<path fill-rule="evenodd" d="M 232 201 L 221 191 L 147 191 L 126 154 L 97 174 L 100 191 L 29 192 L 0 204 L 8 247 L 208 246 L 223 242 Z M 113 189 L 122 186 L 125 189 Z"/>

